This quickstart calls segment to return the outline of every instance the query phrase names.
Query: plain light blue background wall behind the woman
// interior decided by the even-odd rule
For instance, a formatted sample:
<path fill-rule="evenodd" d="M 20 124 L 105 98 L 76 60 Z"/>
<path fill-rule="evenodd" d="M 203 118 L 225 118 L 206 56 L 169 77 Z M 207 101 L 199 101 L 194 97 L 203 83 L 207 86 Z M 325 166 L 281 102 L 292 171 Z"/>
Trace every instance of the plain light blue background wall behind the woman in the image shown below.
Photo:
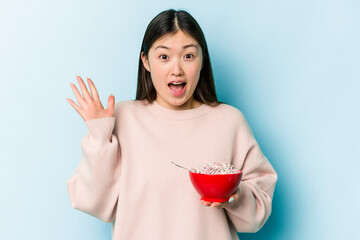
<path fill-rule="evenodd" d="M 65 97 L 78 74 L 104 105 L 133 99 L 143 34 L 168 8 L 201 25 L 219 99 L 279 175 L 271 217 L 241 239 L 360 239 L 355 0 L 2 0 L 0 239 L 110 239 L 110 224 L 68 200 L 86 128 Z"/>

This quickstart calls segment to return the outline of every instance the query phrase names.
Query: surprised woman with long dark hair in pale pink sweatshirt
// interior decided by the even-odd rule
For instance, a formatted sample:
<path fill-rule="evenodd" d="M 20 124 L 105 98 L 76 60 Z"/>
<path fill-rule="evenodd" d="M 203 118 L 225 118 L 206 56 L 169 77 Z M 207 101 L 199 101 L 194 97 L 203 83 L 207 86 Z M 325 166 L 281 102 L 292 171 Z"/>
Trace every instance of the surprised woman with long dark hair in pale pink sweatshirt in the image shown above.
<path fill-rule="evenodd" d="M 93 81 L 74 84 L 88 133 L 67 181 L 72 206 L 112 223 L 114 240 L 238 239 L 271 213 L 277 174 L 240 110 L 217 100 L 205 36 L 186 11 L 159 13 L 139 54 L 135 100 L 107 109 Z M 171 162 L 226 162 L 243 171 L 229 202 L 199 200 Z"/>

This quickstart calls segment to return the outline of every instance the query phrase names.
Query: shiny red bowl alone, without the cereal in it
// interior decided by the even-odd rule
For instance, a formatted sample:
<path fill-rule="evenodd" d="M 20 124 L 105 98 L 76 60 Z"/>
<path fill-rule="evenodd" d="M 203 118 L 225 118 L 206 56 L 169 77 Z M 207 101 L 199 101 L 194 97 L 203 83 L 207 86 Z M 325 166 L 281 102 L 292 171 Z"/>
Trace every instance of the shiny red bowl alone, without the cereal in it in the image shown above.
<path fill-rule="evenodd" d="M 209 202 L 227 202 L 239 186 L 242 171 L 232 174 L 202 174 L 189 171 L 190 180 L 201 199 Z"/>

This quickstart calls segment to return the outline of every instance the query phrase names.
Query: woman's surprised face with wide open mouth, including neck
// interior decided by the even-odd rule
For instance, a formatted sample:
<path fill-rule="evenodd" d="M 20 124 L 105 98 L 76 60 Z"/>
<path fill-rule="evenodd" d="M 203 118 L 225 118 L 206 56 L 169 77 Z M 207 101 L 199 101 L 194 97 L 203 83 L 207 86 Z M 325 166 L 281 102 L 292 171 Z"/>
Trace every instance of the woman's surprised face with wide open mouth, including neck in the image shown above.
<path fill-rule="evenodd" d="M 148 57 L 141 55 L 156 89 L 156 102 L 166 108 L 185 110 L 201 105 L 193 98 L 202 68 L 198 42 L 179 30 L 151 46 Z"/>

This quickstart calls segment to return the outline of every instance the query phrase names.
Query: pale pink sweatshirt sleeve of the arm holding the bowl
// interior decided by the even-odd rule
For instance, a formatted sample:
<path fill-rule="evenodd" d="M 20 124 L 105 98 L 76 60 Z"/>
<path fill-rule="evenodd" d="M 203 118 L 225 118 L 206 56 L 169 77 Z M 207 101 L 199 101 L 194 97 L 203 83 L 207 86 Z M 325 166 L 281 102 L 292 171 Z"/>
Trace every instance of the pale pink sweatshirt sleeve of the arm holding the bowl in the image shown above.
<path fill-rule="evenodd" d="M 242 164 L 242 165 L 240 165 Z M 241 114 L 233 165 L 243 171 L 238 201 L 225 208 L 238 232 L 257 232 L 271 213 L 277 174 Z"/>

